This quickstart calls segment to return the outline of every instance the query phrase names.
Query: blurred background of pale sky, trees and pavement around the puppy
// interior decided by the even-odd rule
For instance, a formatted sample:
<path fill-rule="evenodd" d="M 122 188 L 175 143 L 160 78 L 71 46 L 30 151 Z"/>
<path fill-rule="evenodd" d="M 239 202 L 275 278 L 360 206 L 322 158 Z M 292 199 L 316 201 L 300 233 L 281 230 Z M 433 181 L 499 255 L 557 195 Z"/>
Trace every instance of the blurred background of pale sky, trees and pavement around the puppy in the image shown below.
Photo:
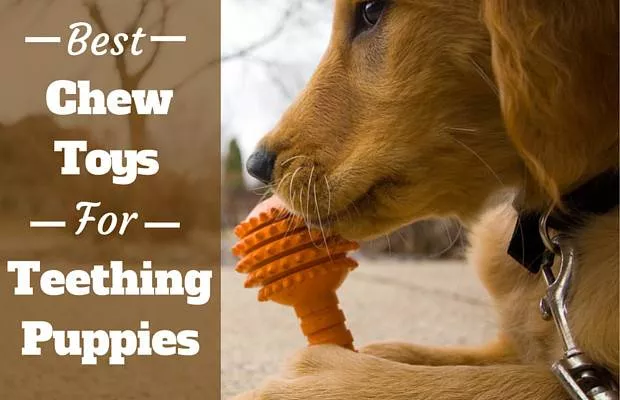
<path fill-rule="evenodd" d="M 244 162 L 304 87 L 325 50 L 332 0 L 222 0 L 223 398 L 276 374 L 306 345 L 292 309 L 243 289 L 232 228 L 268 195 Z M 422 221 L 363 243 L 339 291 L 355 345 L 476 344 L 494 335 L 486 294 L 464 263 L 453 220 Z"/>

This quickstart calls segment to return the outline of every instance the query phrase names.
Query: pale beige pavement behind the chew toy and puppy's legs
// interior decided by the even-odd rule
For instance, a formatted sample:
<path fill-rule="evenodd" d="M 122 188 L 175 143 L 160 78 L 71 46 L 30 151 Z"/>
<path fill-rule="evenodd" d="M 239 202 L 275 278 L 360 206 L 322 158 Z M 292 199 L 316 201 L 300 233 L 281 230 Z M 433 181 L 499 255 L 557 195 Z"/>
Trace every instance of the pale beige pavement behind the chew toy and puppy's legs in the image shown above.
<path fill-rule="evenodd" d="M 222 270 L 222 398 L 277 374 L 305 346 L 294 311 L 259 303 L 244 277 Z M 338 292 L 355 346 L 383 340 L 475 345 L 496 334 L 493 310 L 461 261 L 361 259 Z"/>

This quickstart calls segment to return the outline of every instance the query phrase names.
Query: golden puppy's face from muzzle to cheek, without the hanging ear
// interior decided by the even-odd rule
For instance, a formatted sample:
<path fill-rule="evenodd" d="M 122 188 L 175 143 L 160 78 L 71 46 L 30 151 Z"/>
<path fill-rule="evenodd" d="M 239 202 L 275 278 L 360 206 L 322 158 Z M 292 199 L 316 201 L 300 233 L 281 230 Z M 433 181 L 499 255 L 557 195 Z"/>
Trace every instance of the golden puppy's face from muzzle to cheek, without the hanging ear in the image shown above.
<path fill-rule="evenodd" d="M 350 238 L 472 217 L 524 170 L 490 70 L 476 1 L 337 0 L 322 62 L 259 145 L 263 180 Z"/>

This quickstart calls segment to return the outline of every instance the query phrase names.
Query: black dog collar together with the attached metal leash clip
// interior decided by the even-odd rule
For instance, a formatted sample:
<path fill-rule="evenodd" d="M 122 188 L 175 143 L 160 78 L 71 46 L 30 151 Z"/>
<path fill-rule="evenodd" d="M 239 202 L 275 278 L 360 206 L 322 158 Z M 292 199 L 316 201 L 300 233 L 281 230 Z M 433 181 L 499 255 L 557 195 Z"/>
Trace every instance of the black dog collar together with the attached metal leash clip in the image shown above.
<path fill-rule="evenodd" d="M 553 320 L 562 339 L 563 357 L 551 370 L 573 400 L 618 400 L 618 383 L 596 365 L 576 344 L 568 324 L 567 300 L 577 268 L 575 246 L 569 233 L 580 228 L 588 215 L 604 214 L 618 206 L 618 171 L 608 171 L 562 198 L 569 213 L 551 208 L 544 215 L 520 215 L 508 253 L 531 273 L 542 271 L 547 285 L 540 301 L 545 321 Z M 533 223 L 536 222 L 537 226 Z M 551 236 L 553 229 L 557 233 Z M 527 241 L 526 241 L 527 240 Z M 553 272 L 560 258 L 557 276 Z"/>

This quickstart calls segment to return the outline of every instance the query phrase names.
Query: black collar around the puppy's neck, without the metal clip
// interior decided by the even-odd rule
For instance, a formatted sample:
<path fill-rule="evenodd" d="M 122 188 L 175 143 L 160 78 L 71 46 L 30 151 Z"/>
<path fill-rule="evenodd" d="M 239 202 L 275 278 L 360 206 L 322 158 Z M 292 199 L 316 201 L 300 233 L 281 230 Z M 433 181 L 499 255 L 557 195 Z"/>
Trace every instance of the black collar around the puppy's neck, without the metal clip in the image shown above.
<path fill-rule="evenodd" d="M 592 215 L 602 215 L 618 206 L 618 170 L 597 175 L 576 190 L 562 196 L 566 212 L 555 209 L 547 226 L 568 233 L 583 226 Z M 532 273 L 538 273 L 545 252 L 538 224 L 542 214 L 536 211 L 520 212 L 508 254 Z"/>

